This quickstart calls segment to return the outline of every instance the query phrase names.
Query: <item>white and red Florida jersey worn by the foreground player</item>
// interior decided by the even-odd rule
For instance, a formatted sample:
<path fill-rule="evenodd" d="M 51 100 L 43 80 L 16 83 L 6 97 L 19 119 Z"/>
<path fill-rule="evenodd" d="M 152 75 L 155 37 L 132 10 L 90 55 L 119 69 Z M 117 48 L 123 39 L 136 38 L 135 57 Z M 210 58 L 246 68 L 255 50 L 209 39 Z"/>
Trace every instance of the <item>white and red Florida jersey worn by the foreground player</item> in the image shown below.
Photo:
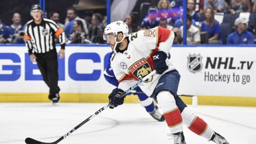
<path fill-rule="evenodd" d="M 155 52 L 161 50 L 169 55 L 174 32 L 162 27 L 155 27 L 131 33 L 128 38 L 127 49 L 121 52 L 117 48 L 111 58 L 111 67 L 119 82 L 118 88 L 124 91 L 132 86 L 135 81 L 142 79 L 154 70 L 152 57 Z M 163 74 L 175 69 L 169 59 L 166 59 L 166 64 L 169 69 Z M 151 76 L 150 79 L 142 82 L 139 87 L 146 95 L 150 96 L 161 75 L 155 74 Z"/>

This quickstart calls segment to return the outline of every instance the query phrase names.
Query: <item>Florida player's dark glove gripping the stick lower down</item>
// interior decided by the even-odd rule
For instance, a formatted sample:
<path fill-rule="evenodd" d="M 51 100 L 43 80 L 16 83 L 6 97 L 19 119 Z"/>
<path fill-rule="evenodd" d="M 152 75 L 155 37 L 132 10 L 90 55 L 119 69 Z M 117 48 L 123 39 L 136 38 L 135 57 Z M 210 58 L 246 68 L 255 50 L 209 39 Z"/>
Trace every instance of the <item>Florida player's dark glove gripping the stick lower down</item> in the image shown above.
<path fill-rule="evenodd" d="M 114 108 L 123 104 L 125 96 L 119 97 L 123 92 L 124 92 L 123 90 L 118 88 L 113 89 L 111 94 L 108 96 L 110 108 Z"/>

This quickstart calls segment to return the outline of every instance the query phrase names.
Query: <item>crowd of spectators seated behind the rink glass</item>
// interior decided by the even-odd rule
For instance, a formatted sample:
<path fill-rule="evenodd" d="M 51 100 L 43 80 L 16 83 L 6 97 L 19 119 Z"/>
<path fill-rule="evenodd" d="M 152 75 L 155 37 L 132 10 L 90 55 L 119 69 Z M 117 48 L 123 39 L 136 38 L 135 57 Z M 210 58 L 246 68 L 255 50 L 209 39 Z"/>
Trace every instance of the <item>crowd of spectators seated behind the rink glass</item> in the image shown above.
<path fill-rule="evenodd" d="M 182 6 L 183 0 L 159 0 L 157 6 L 147 8 L 148 13 L 143 20 L 131 13 L 124 22 L 129 33 L 156 26 L 167 28 L 176 32 L 174 44 L 182 44 Z M 250 0 L 187 0 L 187 44 L 254 44 L 255 12 L 256 3 Z M 224 18 L 226 14 L 230 20 Z M 237 14 L 238 17 L 235 17 Z M 250 20 L 251 17 L 254 19 Z M 102 37 L 106 16 L 100 13 L 79 17 L 76 9 L 69 7 L 65 23 L 59 22 L 56 11 L 48 12 L 46 18 L 64 30 L 67 43 L 106 43 Z M 14 13 L 12 22 L 6 26 L 0 21 L 0 43 L 25 43 L 21 15 Z M 251 24 L 248 25 L 248 22 Z"/>

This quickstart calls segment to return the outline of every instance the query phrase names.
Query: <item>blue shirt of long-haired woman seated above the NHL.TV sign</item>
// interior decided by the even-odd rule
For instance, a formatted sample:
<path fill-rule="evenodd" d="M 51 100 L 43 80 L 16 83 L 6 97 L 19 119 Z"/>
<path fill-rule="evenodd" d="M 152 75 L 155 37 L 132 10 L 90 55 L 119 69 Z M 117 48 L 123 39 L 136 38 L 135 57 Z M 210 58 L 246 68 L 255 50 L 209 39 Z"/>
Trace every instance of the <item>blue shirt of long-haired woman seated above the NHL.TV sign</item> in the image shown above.
<path fill-rule="evenodd" d="M 221 38 L 219 22 L 215 21 L 213 24 L 213 27 L 210 27 L 210 25 L 206 25 L 206 23 L 204 23 L 204 21 L 203 21 L 201 24 L 201 32 L 203 32 L 203 31 L 209 31 L 209 38 L 213 37 L 214 34 L 219 34 L 218 40 L 223 42 L 223 40 Z"/>

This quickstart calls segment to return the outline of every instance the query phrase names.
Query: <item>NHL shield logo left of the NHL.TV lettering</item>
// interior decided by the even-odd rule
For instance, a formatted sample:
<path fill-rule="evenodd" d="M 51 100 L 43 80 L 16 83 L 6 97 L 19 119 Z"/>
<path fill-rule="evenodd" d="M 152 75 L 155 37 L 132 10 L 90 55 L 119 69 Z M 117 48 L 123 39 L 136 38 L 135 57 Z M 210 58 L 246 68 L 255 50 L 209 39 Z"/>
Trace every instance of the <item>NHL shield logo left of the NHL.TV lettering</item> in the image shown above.
<path fill-rule="evenodd" d="M 200 56 L 200 54 L 189 55 L 187 67 L 188 67 L 188 70 L 191 71 L 192 73 L 200 71 L 203 67 L 202 57 Z"/>

